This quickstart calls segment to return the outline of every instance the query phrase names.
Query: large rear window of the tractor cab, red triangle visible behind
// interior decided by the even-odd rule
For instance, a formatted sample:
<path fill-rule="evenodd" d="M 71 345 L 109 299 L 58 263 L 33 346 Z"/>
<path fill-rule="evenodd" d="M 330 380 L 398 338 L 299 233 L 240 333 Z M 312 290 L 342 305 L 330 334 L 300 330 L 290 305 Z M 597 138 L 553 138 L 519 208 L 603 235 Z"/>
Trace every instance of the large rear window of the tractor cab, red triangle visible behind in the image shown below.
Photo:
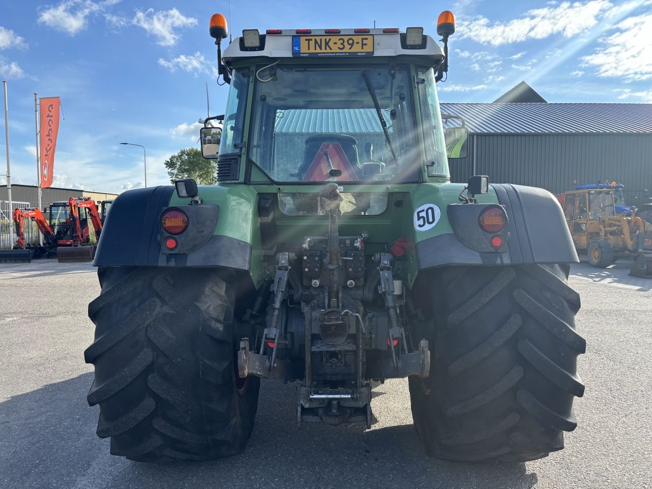
<path fill-rule="evenodd" d="M 421 178 L 407 67 L 258 67 L 253 111 L 249 156 L 273 181 Z"/>

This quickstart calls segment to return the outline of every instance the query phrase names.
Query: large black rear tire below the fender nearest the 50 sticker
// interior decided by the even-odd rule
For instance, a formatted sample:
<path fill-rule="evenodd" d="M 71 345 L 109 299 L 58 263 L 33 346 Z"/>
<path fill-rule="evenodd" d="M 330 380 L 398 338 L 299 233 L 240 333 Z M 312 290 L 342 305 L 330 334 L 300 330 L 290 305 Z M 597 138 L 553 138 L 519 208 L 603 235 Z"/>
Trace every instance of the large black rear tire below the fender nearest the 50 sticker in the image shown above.
<path fill-rule="evenodd" d="M 527 265 L 430 275 L 435 319 L 418 332 L 434 347 L 430 377 L 409 378 L 428 455 L 525 461 L 563 448 L 563 432 L 576 427 L 573 398 L 584 394 L 576 358 L 585 351 L 567 273 Z"/>

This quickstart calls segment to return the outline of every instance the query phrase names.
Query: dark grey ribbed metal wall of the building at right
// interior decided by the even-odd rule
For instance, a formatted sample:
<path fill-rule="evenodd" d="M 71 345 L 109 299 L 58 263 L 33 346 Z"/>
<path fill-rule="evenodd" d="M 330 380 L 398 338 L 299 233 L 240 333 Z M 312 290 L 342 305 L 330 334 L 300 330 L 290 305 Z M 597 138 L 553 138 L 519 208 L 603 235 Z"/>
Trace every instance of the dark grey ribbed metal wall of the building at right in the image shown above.
<path fill-rule="evenodd" d="M 652 134 L 472 134 L 466 158 L 451 160 L 451 180 L 466 182 L 473 174 L 491 182 L 538 186 L 559 194 L 572 182 L 617 181 L 628 203 L 636 191 L 652 191 Z M 640 202 L 640 200 L 639 200 Z"/>

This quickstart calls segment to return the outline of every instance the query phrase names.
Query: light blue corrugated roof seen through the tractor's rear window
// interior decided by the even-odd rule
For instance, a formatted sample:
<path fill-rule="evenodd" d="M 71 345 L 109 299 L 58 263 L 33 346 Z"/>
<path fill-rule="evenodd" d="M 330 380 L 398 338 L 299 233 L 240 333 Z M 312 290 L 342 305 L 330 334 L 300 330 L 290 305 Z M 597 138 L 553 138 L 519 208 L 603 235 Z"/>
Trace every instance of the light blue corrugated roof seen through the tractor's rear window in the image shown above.
<path fill-rule="evenodd" d="M 276 132 L 383 132 L 374 109 L 288 109 L 276 119 Z"/>

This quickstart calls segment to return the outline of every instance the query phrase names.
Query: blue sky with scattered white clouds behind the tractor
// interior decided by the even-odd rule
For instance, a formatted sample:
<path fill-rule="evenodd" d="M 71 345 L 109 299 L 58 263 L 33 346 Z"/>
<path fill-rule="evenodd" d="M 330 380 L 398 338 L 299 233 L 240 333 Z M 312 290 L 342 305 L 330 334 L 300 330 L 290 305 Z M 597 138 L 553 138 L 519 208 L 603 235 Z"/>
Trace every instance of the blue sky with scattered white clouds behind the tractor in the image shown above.
<path fill-rule="evenodd" d="M 652 0 L 356 0 L 346 8 L 278 0 L 0 1 L 0 80 L 7 80 L 13 184 L 35 185 L 34 93 L 60 96 L 53 186 L 122 192 L 170 181 L 164 161 L 198 147 L 224 112 L 209 19 L 242 29 L 405 27 L 436 37 L 456 16 L 444 102 L 492 102 L 529 83 L 548 102 L 652 102 Z M 332 4 L 344 5 L 344 4 Z M 2 106 L 0 104 L 0 110 Z M 0 119 L 0 174 L 5 173 Z M 0 176 L 0 184 L 6 179 Z"/>

